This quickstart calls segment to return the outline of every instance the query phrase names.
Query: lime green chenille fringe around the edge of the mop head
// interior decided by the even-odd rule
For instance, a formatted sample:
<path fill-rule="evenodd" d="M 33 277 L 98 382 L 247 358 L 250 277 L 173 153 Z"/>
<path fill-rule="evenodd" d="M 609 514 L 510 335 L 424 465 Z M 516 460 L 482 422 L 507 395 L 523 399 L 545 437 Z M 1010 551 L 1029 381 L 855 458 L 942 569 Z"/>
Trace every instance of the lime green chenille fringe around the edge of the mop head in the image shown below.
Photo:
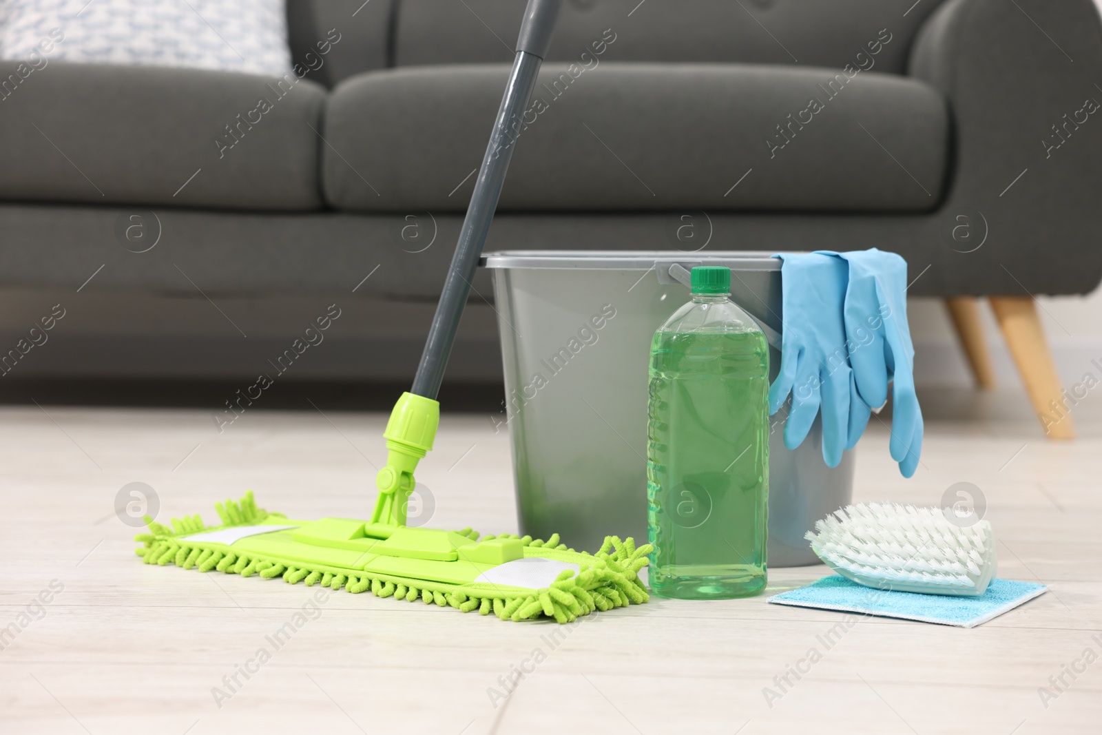
<path fill-rule="evenodd" d="M 636 548 L 629 538 L 620 540 L 611 536 L 596 554 L 576 552 L 561 543 L 555 533 L 547 541 L 532 539 L 530 536 L 519 537 L 503 533 L 497 537 L 487 536 L 483 540 L 494 538 L 520 539 L 526 550 L 532 550 L 526 556 L 560 558 L 555 552 L 579 554 L 584 559 L 575 575 L 570 570 L 563 571 L 549 587 L 536 591 L 525 596 L 476 596 L 464 592 L 456 585 L 428 580 L 414 580 L 387 574 L 348 573 L 348 570 L 329 568 L 323 564 L 304 564 L 300 561 L 279 560 L 271 556 L 236 554 L 203 548 L 177 537 L 213 531 L 230 526 L 246 526 L 262 522 L 267 518 L 285 518 L 282 514 L 268 512 L 258 508 L 252 497 L 252 490 L 245 494 L 238 501 L 226 500 L 215 504 L 215 509 L 223 521 L 222 526 L 206 527 L 198 515 L 173 518 L 172 527 L 154 522 L 145 516 L 149 533 L 139 533 L 134 541 L 141 542 L 136 551 L 147 564 L 175 564 L 183 569 L 198 569 L 201 572 L 218 571 L 241 576 L 259 575 L 270 580 L 277 576 L 285 582 L 298 584 L 305 582 L 307 586 L 321 584 L 332 590 L 344 587 L 353 594 L 370 591 L 378 597 L 393 597 L 406 602 L 424 601 L 428 605 L 454 607 L 463 613 L 478 610 L 480 615 L 494 613 L 503 620 L 536 620 L 553 619 L 557 623 L 572 623 L 583 615 L 595 610 L 602 613 L 616 607 L 640 605 L 649 598 L 647 588 L 639 581 L 639 570 L 647 565 L 647 554 L 651 551 L 649 543 Z M 465 528 L 458 531 L 472 541 L 478 539 L 478 533 Z M 539 553 L 536 550 L 540 550 Z M 550 551 L 551 553 L 545 553 Z"/>

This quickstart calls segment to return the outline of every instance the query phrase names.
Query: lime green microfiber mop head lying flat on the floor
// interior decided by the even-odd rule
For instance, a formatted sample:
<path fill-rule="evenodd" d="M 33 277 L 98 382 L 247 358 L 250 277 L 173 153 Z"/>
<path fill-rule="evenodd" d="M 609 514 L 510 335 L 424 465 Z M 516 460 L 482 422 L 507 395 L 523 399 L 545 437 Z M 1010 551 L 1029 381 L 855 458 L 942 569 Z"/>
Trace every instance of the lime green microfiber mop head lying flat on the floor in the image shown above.
<path fill-rule="evenodd" d="M 442 531 L 399 527 L 388 538 L 367 536 L 376 527 L 360 520 L 288 520 L 258 508 L 252 493 L 239 502 L 215 505 L 222 526 L 204 526 L 196 515 L 173 518 L 172 528 L 145 517 L 149 533 L 138 555 L 147 564 L 176 564 L 201 572 L 291 584 L 323 584 L 352 593 L 494 612 L 503 620 L 541 617 L 570 623 L 594 610 L 647 602 L 638 572 L 650 544 L 609 537 L 596 554 L 531 537 L 488 536 L 471 529 Z"/>

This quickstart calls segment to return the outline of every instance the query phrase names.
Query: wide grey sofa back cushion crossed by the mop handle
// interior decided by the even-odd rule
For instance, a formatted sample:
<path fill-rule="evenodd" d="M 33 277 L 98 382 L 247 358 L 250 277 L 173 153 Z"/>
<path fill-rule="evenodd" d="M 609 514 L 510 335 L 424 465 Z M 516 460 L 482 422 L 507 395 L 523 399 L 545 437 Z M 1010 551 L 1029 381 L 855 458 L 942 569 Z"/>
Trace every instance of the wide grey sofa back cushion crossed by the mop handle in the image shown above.
<path fill-rule="evenodd" d="M 372 0 L 371 4 L 378 0 Z M 525 0 L 397 0 L 395 63 L 508 62 Z M 842 68 L 880 53 L 901 74 L 941 0 L 565 0 L 548 61 L 577 61 L 607 30 L 618 62 L 747 62 Z M 884 44 L 884 39 L 890 42 Z M 866 68 L 867 71 L 867 68 Z"/>

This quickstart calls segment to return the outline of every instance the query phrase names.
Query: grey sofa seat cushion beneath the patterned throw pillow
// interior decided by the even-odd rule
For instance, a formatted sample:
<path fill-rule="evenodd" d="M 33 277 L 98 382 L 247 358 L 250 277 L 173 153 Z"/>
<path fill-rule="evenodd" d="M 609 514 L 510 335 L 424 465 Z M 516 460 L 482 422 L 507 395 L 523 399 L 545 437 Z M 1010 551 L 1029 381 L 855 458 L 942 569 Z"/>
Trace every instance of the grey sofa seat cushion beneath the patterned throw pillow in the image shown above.
<path fill-rule="evenodd" d="M 317 209 L 324 100 L 292 73 L 0 62 L 0 198 Z"/>

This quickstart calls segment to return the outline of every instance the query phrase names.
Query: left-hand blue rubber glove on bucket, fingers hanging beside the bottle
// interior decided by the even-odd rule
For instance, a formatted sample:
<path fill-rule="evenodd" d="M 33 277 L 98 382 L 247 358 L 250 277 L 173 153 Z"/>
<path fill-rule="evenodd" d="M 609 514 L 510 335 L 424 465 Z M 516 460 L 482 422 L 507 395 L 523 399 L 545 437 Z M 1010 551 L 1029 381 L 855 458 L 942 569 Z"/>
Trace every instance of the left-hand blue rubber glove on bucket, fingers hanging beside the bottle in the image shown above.
<path fill-rule="evenodd" d="M 850 369 L 842 306 L 849 284 L 847 263 L 821 253 L 777 255 L 782 261 L 784 335 L 780 374 L 769 388 L 769 413 L 792 394 L 785 423 L 785 446 L 803 442 L 822 409 L 823 460 L 836 467 L 865 424 L 868 406 L 857 399 Z M 851 400 L 854 399 L 854 400 Z"/>

